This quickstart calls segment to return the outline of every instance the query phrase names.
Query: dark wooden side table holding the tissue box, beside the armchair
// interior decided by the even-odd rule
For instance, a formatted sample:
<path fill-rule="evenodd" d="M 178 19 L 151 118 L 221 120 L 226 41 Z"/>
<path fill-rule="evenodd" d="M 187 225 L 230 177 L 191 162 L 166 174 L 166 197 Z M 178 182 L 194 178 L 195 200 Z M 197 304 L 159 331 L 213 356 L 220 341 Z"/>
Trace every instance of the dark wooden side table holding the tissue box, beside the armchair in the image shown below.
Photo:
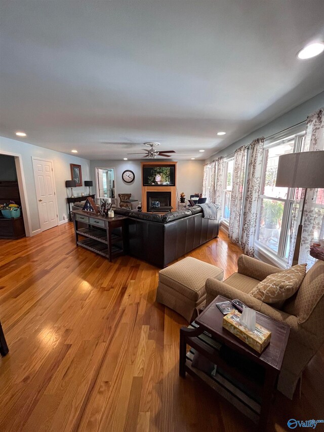
<path fill-rule="evenodd" d="M 213 387 L 219 394 L 223 391 L 223 387 L 217 386 L 210 375 L 191 365 L 187 357 L 186 345 L 188 344 L 211 363 L 217 365 L 216 372 L 218 368 L 221 368 L 228 376 L 232 377 L 232 380 L 236 380 L 240 386 L 243 385 L 253 392 L 254 398 L 258 397 L 260 403 L 258 413 L 255 409 L 254 419 L 258 421 L 258 430 L 264 432 L 276 381 L 285 355 L 290 327 L 263 315 L 263 313 L 256 312 L 257 323 L 271 331 L 269 345 L 259 354 L 223 328 L 224 315 L 216 303 L 226 300 L 228 299 L 222 296 L 216 297 L 189 328 L 182 327 L 180 329 L 179 374 L 185 377 L 186 372 L 188 372 Z M 247 368 L 242 367 L 242 364 L 251 364 L 250 373 L 247 372 Z M 229 400 L 224 391 L 222 396 Z"/>

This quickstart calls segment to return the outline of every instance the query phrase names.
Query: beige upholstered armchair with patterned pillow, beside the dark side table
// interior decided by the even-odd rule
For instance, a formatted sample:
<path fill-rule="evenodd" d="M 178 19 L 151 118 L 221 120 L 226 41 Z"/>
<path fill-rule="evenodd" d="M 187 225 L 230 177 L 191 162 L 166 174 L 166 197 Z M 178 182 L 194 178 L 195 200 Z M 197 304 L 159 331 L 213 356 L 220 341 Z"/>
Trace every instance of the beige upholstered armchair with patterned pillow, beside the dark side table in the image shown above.
<path fill-rule="evenodd" d="M 246 255 L 241 255 L 237 264 L 237 273 L 226 281 L 207 280 L 207 304 L 218 295 L 231 300 L 238 298 L 247 306 L 291 327 L 277 388 L 293 399 L 304 368 L 324 343 L 324 262 L 317 261 L 307 271 L 299 290 L 286 300 L 281 310 L 248 294 L 268 274 L 281 269 Z"/>

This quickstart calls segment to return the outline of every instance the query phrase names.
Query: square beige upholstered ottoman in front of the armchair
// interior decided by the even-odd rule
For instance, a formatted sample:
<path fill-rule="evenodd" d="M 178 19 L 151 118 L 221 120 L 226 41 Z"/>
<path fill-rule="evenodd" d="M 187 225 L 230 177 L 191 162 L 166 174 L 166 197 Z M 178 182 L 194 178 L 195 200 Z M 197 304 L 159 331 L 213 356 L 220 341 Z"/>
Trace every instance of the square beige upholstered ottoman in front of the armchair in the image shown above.
<path fill-rule="evenodd" d="M 222 281 L 224 270 L 215 265 L 187 257 L 158 273 L 156 301 L 180 313 L 189 323 L 206 301 L 208 278 Z"/>

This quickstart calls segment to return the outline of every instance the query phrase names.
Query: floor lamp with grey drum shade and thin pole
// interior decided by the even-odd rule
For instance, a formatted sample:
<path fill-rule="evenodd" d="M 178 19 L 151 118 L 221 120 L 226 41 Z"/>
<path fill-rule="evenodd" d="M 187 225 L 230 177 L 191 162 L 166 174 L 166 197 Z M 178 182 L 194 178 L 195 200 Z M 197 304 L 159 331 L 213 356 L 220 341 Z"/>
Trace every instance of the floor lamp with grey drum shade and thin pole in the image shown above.
<path fill-rule="evenodd" d="M 300 243 L 303 231 L 303 214 L 308 188 L 324 187 L 324 151 L 302 151 L 279 156 L 277 187 L 305 188 L 301 219 L 298 226 L 293 265 L 298 264 Z"/>

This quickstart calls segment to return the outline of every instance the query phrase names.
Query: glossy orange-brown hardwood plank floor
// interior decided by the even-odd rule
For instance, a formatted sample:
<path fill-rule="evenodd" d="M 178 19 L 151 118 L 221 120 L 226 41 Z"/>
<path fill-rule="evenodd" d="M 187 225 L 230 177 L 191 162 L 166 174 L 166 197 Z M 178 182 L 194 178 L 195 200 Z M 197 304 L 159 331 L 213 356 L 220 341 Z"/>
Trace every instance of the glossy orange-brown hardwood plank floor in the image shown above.
<path fill-rule="evenodd" d="M 189 255 L 236 271 L 240 249 L 219 239 Z M 194 379 L 178 376 L 176 312 L 154 302 L 158 268 L 109 263 L 74 245 L 71 223 L 0 241 L 0 431 L 245 432 L 253 424 Z M 193 275 L 194 277 L 194 275 Z M 278 394 L 269 430 L 322 418 L 323 351 L 302 397 Z M 320 428 L 320 425 L 317 425 Z"/>

